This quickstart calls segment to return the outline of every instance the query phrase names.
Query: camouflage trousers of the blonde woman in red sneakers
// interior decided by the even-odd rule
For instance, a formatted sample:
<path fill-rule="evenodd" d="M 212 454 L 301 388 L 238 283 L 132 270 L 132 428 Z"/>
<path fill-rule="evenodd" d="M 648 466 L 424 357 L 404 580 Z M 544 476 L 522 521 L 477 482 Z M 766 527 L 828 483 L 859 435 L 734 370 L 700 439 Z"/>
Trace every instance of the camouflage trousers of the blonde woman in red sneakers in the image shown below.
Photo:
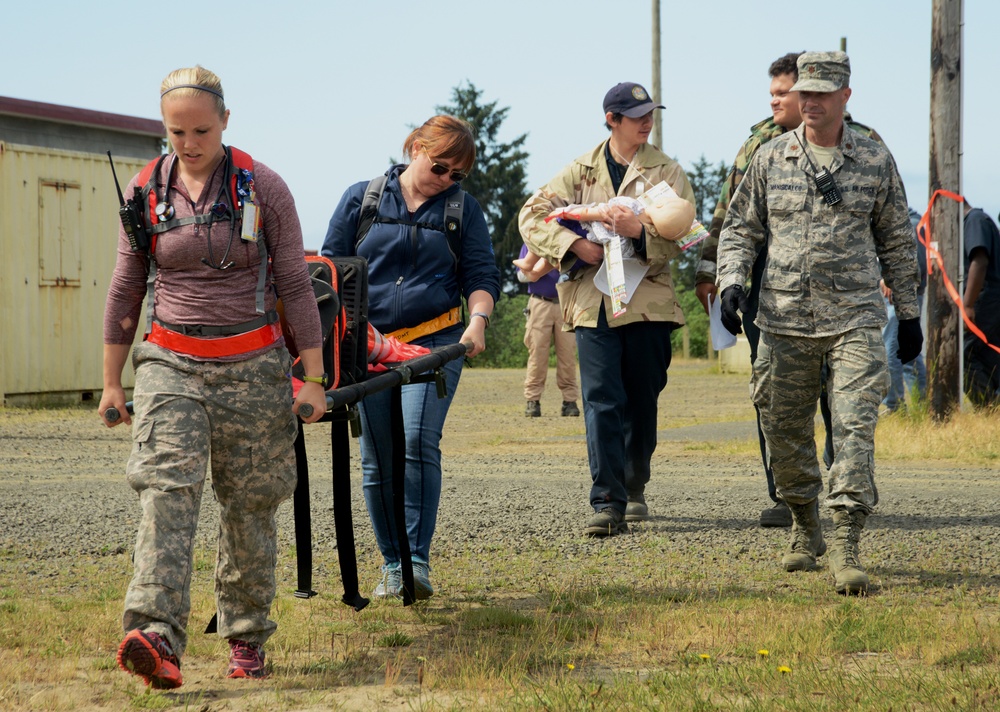
<path fill-rule="evenodd" d="M 263 643 L 275 594 L 278 505 L 295 489 L 291 358 L 285 349 L 233 363 L 135 347 L 128 482 L 142 520 L 125 631 L 187 645 L 195 528 L 206 473 L 219 503 L 215 597 L 223 638 Z"/>

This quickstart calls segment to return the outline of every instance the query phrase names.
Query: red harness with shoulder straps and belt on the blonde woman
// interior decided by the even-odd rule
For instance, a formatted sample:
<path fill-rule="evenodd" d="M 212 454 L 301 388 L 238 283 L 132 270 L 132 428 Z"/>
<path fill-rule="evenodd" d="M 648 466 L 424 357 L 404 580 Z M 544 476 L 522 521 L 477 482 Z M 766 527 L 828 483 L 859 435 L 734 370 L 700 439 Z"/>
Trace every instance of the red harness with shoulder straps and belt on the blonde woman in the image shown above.
<path fill-rule="evenodd" d="M 236 220 L 236 215 L 243 215 L 247 203 L 256 203 L 256 193 L 253 183 L 253 158 L 237 148 L 226 147 L 226 165 L 229 175 L 229 199 L 232 214 L 230 220 Z M 160 233 L 172 230 L 182 225 L 211 224 L 218 218 L 211 212 L 203 215 L 192 215 L 186 218 L 164 219 L 157 212 L 159 204 L 160 168 L 167 156 L 155 158 L 140 171 L 138 183 L 142 185 L 143 217 L 152 235 L 149 250 L 149 275 L 146 280 L 146 341 L 170 349 L 179 354 L 199 358 L 224 358 L 239 356 L 270 346 L 281 338 L 281 325 L 275 311 L 266 311 L 264 295 L 267 286 L 268 258 L 264 230 L 261 225 L 260 211 L 256 211 L 257 250 L 260 255 L 260 270 L 257 278 L 256 308 L 260 316 L 251 321 L 225 326 L 208 326 L 201 324 L 167 324 L 154 315 L 155 284 L 156 284 L 156 242 Z M 176 156 L 171 158 L 176 161 Z M 167 182 L 173 172 L 173 163 L 167 173 Z M 235 227 L 235 226 L 234 226 Z"/>

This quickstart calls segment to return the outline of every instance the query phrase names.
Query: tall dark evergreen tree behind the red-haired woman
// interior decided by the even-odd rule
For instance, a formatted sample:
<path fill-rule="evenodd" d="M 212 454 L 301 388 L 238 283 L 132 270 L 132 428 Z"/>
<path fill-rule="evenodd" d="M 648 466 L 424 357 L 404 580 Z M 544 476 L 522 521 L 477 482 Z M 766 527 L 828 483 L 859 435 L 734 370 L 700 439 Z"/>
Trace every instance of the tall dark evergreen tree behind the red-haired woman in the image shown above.
<path fill-rule="evenodd" d="M 437 106 L 435 110 L 468 121 L 476 131 L 476 165 L 462 181 L 462 188 L 479 201 L 486 214 L 501 287 L 516 293 L 523 286 L 516 279 L 511 260 L 518 256 L 523 244 L 517 229 L 517 214 L 529 195 L 528 154 L 523 148 L 528 135 L 501 142 L 500 127 L 510 108 L 497 108 L 496 101 L 483 104 L 482 95 L 481 90 L 467 82 L 452 89 L 451 104 Z"/>

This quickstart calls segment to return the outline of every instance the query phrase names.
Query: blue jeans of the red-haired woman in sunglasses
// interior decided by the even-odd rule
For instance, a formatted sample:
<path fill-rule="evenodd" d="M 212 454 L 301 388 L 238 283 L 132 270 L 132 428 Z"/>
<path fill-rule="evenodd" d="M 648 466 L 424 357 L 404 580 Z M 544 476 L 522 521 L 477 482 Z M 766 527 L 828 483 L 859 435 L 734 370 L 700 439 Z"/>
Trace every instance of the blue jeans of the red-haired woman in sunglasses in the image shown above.
<path fill-rule="evenodd" d="M 415 343 L 429 349 L 458 343 L 461 328 L 431 334 Z M 413 561 L 430 561 L 431 538 L 437 524 L 441 501 L 441 433 L 448 408 L 462 375 L 463 359 L 444 365 L 448 392 L 438 398 L 434 382 L 409 383 L 403 386 L 403 428 L 406 433 L 406 472 L 404 502 L 406 535 Z M 360 403 L 362 489 L 375 539 L 385 563 L 400 560 L 396 520 L 393 515 L 392 428 L 390 403 L 392 391 L 366 397 Z"/>

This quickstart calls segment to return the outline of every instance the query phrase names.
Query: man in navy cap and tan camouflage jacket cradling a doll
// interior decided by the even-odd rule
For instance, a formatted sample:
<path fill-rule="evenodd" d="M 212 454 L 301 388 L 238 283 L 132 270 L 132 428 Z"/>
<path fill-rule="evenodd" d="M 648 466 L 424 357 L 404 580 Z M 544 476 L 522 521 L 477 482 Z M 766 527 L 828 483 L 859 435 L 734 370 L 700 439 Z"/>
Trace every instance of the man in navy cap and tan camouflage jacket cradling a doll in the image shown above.
<path fill-rule="evenodd" d="M 649 515 L 644 492 L 656 448 L 656 401 L 667 383 L 670 332 L 684 324 L 668 263 L 680 250 L 654 227 L 643 227 L 628 208 L 611 207 L 608 227 L 631 238 L 649 266 L 625 312 L 615 317 L 611 298 L 594 282 L 604 259 L 602 246 L 545 218 L 567 205 L 638 197 L 660 181 L 694 203 L 683 169 L 648 144 L 653 111 L 662 108 L 638 84 L 613 87 L 604 98 L 610 139 L 532 195 L 519 218 L 528 248 L 568 275 L 557 289 L 563 321 L 576 333 L 580 358 L 594 508 L 584 532 L 591 536 L 628 531 L 626 521 Z"/>

